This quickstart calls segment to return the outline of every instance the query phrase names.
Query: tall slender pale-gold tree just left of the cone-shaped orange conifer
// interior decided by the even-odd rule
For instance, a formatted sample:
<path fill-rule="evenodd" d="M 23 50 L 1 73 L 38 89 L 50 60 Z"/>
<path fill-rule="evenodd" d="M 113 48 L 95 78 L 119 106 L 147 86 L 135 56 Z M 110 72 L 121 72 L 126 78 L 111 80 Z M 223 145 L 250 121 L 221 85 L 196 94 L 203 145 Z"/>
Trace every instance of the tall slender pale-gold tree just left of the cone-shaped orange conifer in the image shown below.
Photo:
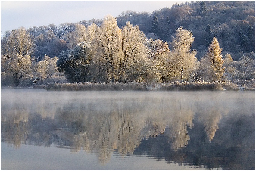
<path fill-rule="evenodd" d="M 189 71 L 195 65 L 195 52 L 190 51 L 191 44 L 194 41 L 192 33 L 189 30 L 179 27 L 172 37 L 172 65 L 176 68 L 178 78 L 181 80 L 189 76 Z"/>

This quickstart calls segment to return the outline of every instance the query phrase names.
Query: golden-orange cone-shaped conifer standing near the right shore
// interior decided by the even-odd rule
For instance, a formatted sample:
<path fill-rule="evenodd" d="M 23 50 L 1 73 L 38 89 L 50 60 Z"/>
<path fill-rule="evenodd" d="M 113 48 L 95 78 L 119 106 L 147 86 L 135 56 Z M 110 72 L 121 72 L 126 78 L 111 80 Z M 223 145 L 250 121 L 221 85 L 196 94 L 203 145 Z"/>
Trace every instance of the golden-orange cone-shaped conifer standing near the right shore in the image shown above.
<path fill-rule="evenodd" d="M 225 67 L 222 66 L 224 59 L 221 54 L 222 48 L 220 48 L 219 42 L 216 37 L 213 38 L 212 42 L 208 46 L 207 57 L 211 61 L 211 80 L 217 81 L 221 78 L 224 73 Z"/>

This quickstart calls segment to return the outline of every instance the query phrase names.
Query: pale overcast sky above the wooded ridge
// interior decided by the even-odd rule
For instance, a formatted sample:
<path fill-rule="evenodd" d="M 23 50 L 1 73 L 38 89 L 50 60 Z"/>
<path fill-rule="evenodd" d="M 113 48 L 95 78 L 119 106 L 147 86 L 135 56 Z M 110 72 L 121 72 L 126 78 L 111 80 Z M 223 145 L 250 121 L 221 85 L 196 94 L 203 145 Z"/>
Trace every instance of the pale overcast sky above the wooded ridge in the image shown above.
<path fill-rule="evenodd" d="M 76 23 L 92 18 L 117 17 L 124 11 L 153 12 L 186 1 L 1 1 L 1 34 L 20 26 Z"/>

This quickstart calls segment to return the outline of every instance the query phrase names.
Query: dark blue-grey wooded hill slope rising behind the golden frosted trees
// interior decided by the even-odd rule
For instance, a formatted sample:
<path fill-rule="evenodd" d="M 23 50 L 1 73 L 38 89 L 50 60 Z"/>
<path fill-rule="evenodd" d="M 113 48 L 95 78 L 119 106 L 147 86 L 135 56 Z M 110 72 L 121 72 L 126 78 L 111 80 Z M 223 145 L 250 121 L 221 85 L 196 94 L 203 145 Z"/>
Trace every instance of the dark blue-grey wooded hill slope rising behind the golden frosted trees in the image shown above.
<path fill-rule="evenodd" d="M 153 29 L 153 18 L 157 17 Z M 175 4 L 151 13 L 126 11 L 117 17 L 121 28 L 126 21 L 138 25 L 145 34 L 154 33 L 154 38 L 171 41 L 176 28 L 182 26 L 195 37 L 192 49 L 200 59 L 207 51 L 214 36 L 219 41 L 223 54 L 231 54 L 239 60 L 241 52 L 255 52 L 255 2 L 254 1 L 201 1 Z"/>

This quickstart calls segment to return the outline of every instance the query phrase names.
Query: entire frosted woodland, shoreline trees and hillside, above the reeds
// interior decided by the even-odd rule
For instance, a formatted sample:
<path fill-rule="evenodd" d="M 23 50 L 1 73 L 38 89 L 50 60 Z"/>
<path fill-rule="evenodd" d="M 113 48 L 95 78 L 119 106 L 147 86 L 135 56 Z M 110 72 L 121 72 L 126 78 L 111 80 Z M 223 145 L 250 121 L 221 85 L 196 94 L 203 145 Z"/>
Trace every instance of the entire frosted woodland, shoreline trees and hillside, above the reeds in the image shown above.
<path fill-rule="evenodd" d="M 19 27 L 1 39 L 1 85 L 255 79 L 255 2 Z"/>

